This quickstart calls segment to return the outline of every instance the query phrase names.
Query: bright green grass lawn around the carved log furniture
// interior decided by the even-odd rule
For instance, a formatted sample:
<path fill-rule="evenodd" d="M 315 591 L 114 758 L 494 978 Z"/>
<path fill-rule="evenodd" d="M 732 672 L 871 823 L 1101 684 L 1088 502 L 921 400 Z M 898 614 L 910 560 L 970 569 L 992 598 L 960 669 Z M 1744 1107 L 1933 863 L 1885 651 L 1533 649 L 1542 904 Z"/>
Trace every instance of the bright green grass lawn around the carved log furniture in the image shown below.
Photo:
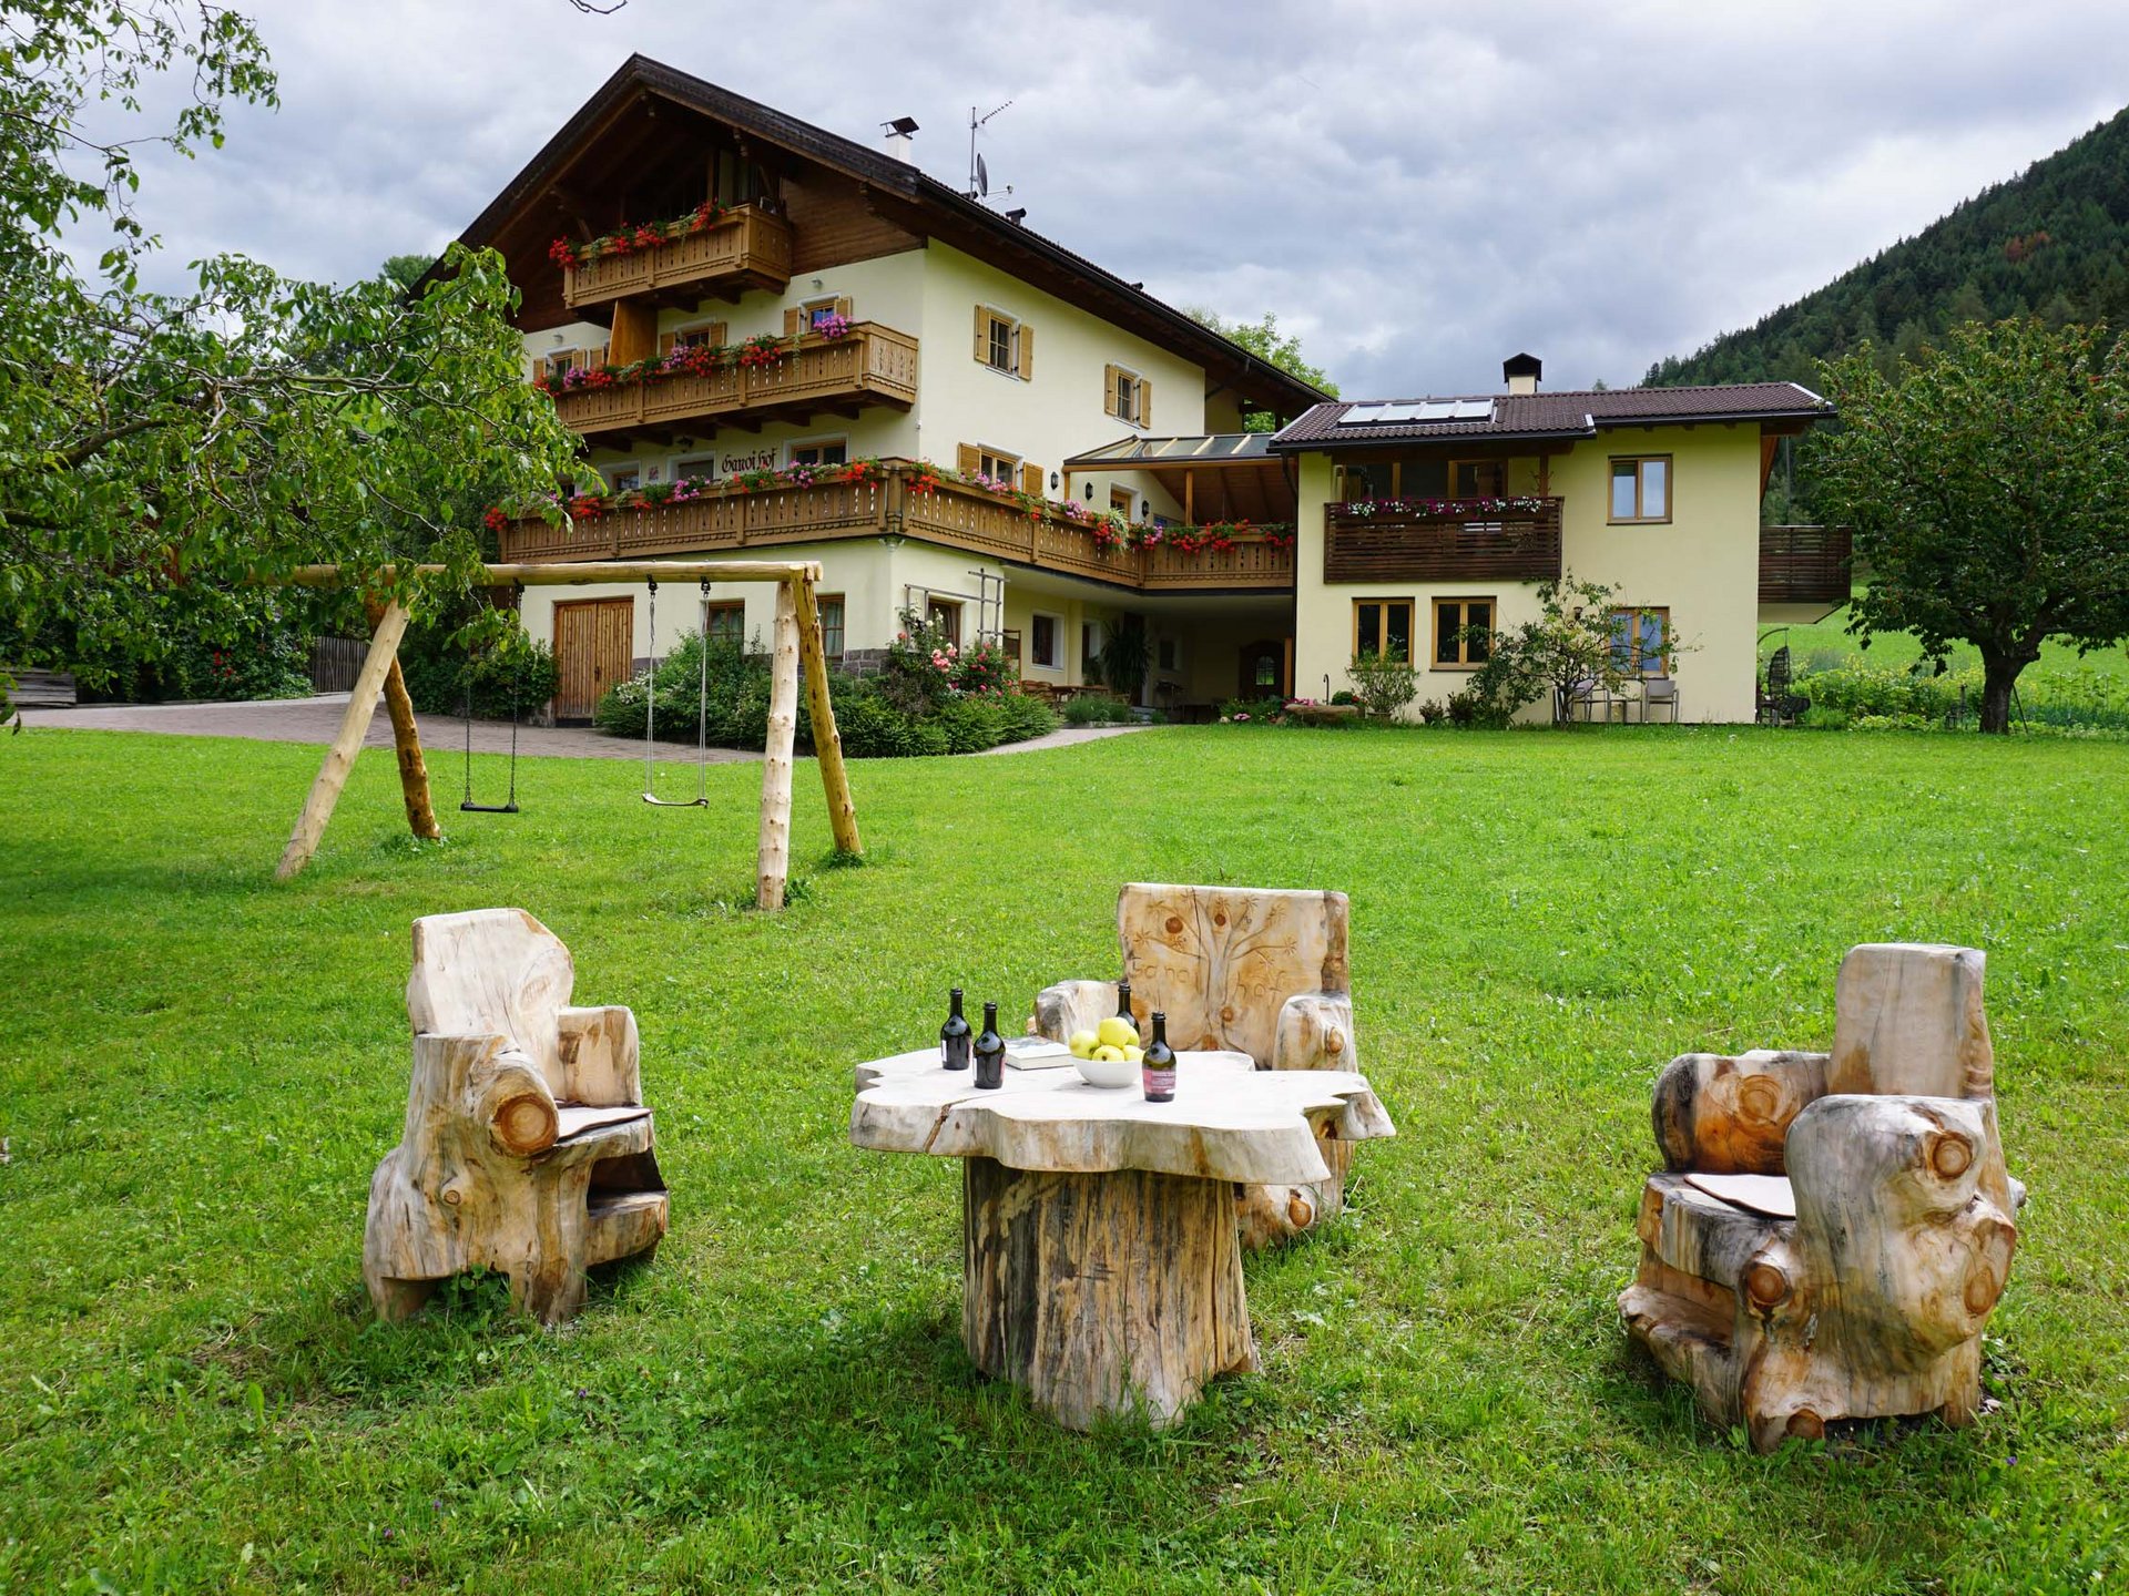
<path fill-rule="evenodd" d="M 400 834 L 368 753 L 0 741 L 0 1587 L 19 1592 L 2091 1592 L 2129 1581 L 2129 747 L 1650 728 L 1160 728 L 856 766 L 792 909 L 758 770 L 651 811 L 530 762 L 522 817 Z M 1113 970 L 1122 879 L 1343 887 L 1401 1138 L 1248 1285 L 1260 1377 L 1067 1434 L 958 1343 L 954 1170 L 847 1145 L 849 1062 L 945 987 Z M 562 1334 L 492 1287 L 370 1324 L 407 926 L 524 904 L 628 1002 L 673 1185 Z M 1856 941 L 1988 949 L 2033 1187 L 1978 1428 L 1776 1458 L 1629 1351 L 1614 1296 L 1688 1047 L 1822 1047 Z"/>

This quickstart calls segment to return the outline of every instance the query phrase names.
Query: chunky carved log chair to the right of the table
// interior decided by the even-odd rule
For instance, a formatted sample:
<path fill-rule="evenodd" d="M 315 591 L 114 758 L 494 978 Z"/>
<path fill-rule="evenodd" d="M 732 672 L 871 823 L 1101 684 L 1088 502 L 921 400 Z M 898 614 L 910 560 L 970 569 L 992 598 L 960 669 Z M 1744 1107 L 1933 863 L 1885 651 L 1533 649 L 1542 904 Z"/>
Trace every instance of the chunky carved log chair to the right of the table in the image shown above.
<path fill-rule="evenodd" d="M 1831 1053 L 1686 1053 L 1656 1081 L 1627 1328 L 1759 1451 L 1980 1404 L 2025 1187 L 2003 1170 L 1982 953 L 1867 943 Z"/>

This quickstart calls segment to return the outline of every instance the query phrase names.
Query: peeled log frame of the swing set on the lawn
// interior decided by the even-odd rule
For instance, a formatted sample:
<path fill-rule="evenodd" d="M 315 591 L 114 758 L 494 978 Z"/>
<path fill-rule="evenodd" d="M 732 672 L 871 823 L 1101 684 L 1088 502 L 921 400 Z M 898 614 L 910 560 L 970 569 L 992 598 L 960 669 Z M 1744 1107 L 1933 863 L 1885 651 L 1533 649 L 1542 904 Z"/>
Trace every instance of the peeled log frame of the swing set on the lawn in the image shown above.
<path fill-rule="evenodd" d="M 417 572 L 443 566 L 417 566 Z M 396 572 L 387 572 L 396 575 Z M 843 764 L 843 738 L 835 728 L 835 706 L 828 702 L 828 655 L 820 636 L 820 562 L 815 560 L 577 560 L 571 564 L 481 566 L 492 585 L 583 587 L 590 583 L 637 581 L 769 581 L 777 585 L 777 619 L 771 643 L 769 672 L 769 747 L 762 755 L 762 817 L 756 851 L 756 904 L 764 911 L 783 909 L 783 887 L 790 881 L 792 832 L 792 749 L 798 736 L 798 687 L 805 681 L 807 711 L 813 719 L 813 751 L 820 760 L 820 781 L 828 798 L 828 828 L 839 853 L 862 855 L 858 838 L 858 807 L 849 796 L 849 770 Z M 339 587 L 339 566 L 298 566 L 287 583 L 296 587 Z M 275 879 L 287 881 L 317 851 L 326 821 L 341 800 L 347 775 L 370 730 L 379 694 L 392 717 L 392 743 L 398 753 L 400 796 L 407 800 L 407 826 L 415 836 L 436 841 L 436 809 L 428 792 L 428 764 L 422 755 L 422 734 L 413 717 L 413 700 L 400 675 L 398 643 L 407 632 L 407 606 L 394 600 L 370 600 L 370 651 L 356 672 L 347 696 L 341 730 L 326 749 L 296 830 L 290 832 Z"/>

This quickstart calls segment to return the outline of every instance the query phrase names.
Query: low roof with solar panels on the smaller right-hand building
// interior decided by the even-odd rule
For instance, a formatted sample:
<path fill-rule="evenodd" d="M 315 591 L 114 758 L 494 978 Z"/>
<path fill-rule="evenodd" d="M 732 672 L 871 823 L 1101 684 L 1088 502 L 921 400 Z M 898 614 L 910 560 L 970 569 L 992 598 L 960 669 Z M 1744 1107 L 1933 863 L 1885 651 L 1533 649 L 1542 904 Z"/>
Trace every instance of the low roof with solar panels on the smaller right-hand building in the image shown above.
<path fill-rule="evenodd" d="M 1392 419 L 1422 404 L 1463 402 L 1486 406 L 1469 419 Z M 1799 383 L 1716 383 L 1712 387 L 1607 387 L 1554 394 L 1467 394 L 1426 400 L 1377 400 L 1392 411 L 1380 421 L 1346 421 L 1369 400 L 1331 400 L 1290 421 L 1273 438 L 1280 453 L 1324 447 L 1441 443 L 1450 438 L 1590 438 L 1601 428 L 1663 426 L 1678 421 L 1822 421 L 1833 406 Z M 1377 411 L 1380 413 L 1380 411 Z"/>

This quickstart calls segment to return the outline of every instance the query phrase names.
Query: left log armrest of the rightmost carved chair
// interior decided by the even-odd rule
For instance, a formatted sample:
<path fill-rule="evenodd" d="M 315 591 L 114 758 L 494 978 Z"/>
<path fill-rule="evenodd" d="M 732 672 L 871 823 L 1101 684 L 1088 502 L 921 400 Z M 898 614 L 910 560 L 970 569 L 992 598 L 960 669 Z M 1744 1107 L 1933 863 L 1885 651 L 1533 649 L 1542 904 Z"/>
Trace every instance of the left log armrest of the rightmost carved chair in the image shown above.
<path fill-rule="evenodd" d="M 1656 1077 L 1656 1151 L 1669 1170 L 1784 1175 L 1788 1128 L 1825 1094 L 1825 1053 L 1682 1053 Z"/>

